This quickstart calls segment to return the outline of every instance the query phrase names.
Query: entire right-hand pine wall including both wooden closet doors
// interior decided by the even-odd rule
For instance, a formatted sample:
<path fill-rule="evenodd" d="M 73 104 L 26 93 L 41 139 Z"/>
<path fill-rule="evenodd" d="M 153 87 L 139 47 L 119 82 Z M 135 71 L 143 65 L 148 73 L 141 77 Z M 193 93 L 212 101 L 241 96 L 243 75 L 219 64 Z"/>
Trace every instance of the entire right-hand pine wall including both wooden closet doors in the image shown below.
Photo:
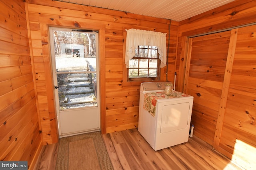
<path fill-rule="evenodd" d="M 256 166 L 253 160 L 256 157 L 256 25 L 202 36 L 205 45 L 209 37 L 219 37 L 216 41 L 220 42 L 228 37 L 226 34 L 230 34 L 226 59 L 220 59 L 219 64 L 204 60 L 210 55 L 221 57 L 218 51 L 223 49 L 225 43 L 222 43 L 222 47 L 213 48 L 212 53 L 201 55 L 214 42 L 199 49 L 196 45 L 200 37 L 188 36 L 256 23 L 254 16 L 255 0 L 236 0 L 180 22 L 178 33 L 177 60 L 182 71 L 178 88 L 195 97 L 192 113 L 194 134 L 245 169 Z M 202 61 L 196 61 L 196 57 Z M 224 62 L 226 65 L 223 65 Z M 210 69 L 212 65 L 215 69 Z M 224 66 L 224 71 L 218 71 L 219 66 Z M 216 93 L 217 89 L 220 92 L 217 98 L 217 95 L 210 95 Z"/>

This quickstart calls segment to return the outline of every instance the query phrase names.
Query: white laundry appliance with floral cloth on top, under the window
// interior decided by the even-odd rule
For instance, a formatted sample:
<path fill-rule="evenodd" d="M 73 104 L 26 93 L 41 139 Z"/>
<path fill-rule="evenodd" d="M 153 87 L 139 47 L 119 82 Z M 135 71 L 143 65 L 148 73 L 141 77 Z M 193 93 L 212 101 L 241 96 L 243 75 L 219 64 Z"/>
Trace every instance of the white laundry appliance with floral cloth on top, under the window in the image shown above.
<path fill-rule="evenodd" d="M 188 142 L 194 98 L 178 91 L 165 95 L 166 83 L 140 85 L 138 131 L 154 150 Z"/>

